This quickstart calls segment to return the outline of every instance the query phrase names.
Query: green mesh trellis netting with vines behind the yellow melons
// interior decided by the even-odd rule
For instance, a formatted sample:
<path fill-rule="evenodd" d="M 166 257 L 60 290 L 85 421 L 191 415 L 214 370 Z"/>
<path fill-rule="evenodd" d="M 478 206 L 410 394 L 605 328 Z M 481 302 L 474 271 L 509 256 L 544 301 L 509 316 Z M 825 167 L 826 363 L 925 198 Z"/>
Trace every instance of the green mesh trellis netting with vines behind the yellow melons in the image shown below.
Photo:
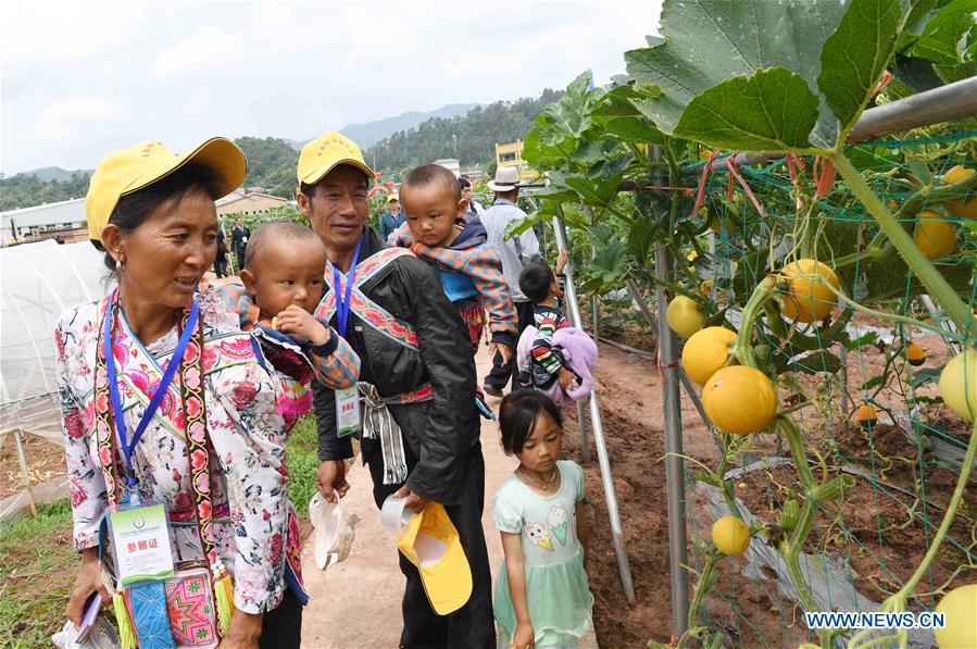
<path fill-rule="evenodd" d="M 975 305 L 977 221 L 956 216 L 947 201 L 927 200 L 920 188 L 939 184 L 956 164 L 974 160 L 977 132 L 941 134 L 912 140 L 852 146 L 873 190 L 916 236 L 920 215 L 945 220 L 956 238 L 932 261 Z M 799 169 L 798 162 L 804 165 Z M 761 364 L 781 371 L 779 396 L 790 403 L 812 471 L 819 480 L 846 476 L 840 498 L 818 503 L 800 570 L 817 610 L 877 610 L 898 591 L 934 540 L 961 471 L 969 425 L 939 398 L 942 366 L 957 353 L 961 339 L 952 323 L 934 309 L 901 259 L 887 250 L 873 217 L 843 185 L 816 203 L 791 178 L 791 166 L 811 175 L 811 159 L 785 159 L 739 171 L 763 209 L 761 214 L 739 182 L 710 175 L 701 210 L 701 235 L 692 247 L 689 271 L 700 286 L 706 324 L 738 328 L 742 307 L 769 273 L 798 258 L 831 266 L 841 300 L 830 326 L 791 325 L 786 337 L 761 327 L 754 339 Z M 699 165 L 701 169 L 702 165 Z M 963 203 L 973 194 L 961 198 Z M 813 212 L 809 212 L 813 210 Z M 816 214 L 816 219 L 807 216 Z M 704 227 L 711 223 L 717 233 Z M 816 227 L 816 233 L 802 228 Z M 856 302 L 856 303 L 853 303 Z M 941 335 L 942 334 L 942 335 Z M 910 346 L 913 352 L 907 354 Z M 916 358 L 922 349 L 925 359 Z M 868 409 L 874 421 L 864 415 Z M 860 415 L 862 420 L 860 421 Z M 692 438 L 686 435 L 687 445 Z M 778 435 L 717 437 L 727 494 L 699 482 L 687 494 L 697 541 L 692 567 L 707 563 L 712 521 L 737 513 L 755 534 L 742 559 L 726 560 L 724 575 L 705 594 L 700 624 L 722 633 L 734 646 L 796 646 L 812 641 L 802 598 L 776 551 L 779 516 L 803 500 L 804 489 Z M 715 470 L 715 466 L 713 466 Z M 909 600 L 911 611 L 931 611 L 940 597 L 977 576 L 977 482 L 972 476 L 964 501 L 941 550 Z M 851 633 L 836 637 L 843 644 Z M 934 644 L 930 631 L 909 633 L 912 647 Z"/>

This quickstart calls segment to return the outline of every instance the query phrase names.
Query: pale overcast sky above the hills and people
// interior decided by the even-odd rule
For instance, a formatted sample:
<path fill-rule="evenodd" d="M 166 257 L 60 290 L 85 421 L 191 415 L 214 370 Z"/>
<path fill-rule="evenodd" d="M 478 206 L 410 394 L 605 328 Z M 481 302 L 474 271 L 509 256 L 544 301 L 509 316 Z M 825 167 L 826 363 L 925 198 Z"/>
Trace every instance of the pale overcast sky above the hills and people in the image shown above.
<path fill-rule="evenodd" d="M 624 72 L 635 2 L 4 3 L 0 171 L 92 169 L 158 139 L 305 139 Z"/>

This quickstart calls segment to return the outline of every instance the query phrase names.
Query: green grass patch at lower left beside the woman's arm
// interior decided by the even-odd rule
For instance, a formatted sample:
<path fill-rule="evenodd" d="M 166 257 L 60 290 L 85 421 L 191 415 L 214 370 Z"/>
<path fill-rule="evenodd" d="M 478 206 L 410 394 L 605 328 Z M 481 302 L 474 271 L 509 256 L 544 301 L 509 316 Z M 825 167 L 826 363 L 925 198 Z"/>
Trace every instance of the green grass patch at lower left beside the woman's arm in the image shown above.
<path fill-rule="evenodd" d="M 67 500 L 0 526 L 0 646 L 51 645 L 64 625 L 77 566 Z"/>

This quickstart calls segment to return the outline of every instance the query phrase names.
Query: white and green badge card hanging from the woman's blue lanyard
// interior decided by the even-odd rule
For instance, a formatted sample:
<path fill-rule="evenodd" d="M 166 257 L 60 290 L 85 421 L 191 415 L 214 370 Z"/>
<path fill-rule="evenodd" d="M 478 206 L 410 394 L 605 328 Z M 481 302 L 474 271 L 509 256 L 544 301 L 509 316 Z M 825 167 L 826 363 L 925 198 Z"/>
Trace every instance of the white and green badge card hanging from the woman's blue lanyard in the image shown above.
<path fill-rule="evenodd" d="M 173 576 L 170 523 L 162 504 L 133 507 L 109 515 L 115 576 L 121 586 Z"/>

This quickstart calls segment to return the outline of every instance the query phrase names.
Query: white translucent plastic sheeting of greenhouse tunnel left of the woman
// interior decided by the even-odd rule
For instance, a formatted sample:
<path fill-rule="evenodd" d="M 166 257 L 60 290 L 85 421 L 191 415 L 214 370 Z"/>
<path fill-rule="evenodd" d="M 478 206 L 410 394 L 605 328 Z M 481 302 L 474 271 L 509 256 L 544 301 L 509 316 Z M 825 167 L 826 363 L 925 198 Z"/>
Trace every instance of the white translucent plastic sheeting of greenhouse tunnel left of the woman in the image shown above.
<path fill-rule="evenodd" d="M 105 266 L 91 244 L 54 241 L 0 249 L 0 424 L 57 440 L 54 324 L 105 294 Z"/>

